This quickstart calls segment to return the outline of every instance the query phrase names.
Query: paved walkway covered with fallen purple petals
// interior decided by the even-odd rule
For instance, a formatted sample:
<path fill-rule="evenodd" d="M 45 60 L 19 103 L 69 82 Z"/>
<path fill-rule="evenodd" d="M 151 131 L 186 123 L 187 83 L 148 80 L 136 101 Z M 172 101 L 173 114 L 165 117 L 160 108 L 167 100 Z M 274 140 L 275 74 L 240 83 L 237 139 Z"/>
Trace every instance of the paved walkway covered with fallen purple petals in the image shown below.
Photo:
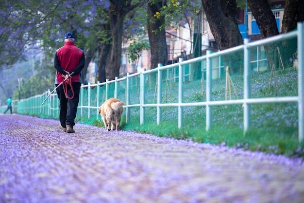
<path fill-rule="evenodd" d="M 0 203 L 304 203 L 301 160 L 0 114 Z"/>

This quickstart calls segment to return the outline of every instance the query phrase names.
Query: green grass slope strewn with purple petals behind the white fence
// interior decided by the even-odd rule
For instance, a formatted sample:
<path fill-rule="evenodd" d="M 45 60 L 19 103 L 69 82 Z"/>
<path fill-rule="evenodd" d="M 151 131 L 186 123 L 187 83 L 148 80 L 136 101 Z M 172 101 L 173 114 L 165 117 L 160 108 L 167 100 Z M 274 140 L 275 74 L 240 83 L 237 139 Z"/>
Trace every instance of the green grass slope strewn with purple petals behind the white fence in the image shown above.
<path fill-rule="evenodd" d="M 271 72 L 252 72 L 252 98 L 277 96 L 273 79 L 270 85 L 270 74 Z M 276 75 L 279 96 L 297 95 L 297 71 L 288 68 L 285 71 L 276 71 Z M 236 99 L 236 94 L 239 99 L 243 98 L 243 75 L 234 74 L 231 78 L 236 88 L 234 91 L 231 87 L 232 99 Z M 177 90 L 177 84 L 170 90 L 173 101 L 177 101 Z M 147 92 L 146 103 L 153 101 L 153 96 L 154 91 Z M 185 84 L 184 96 L 185 103 L 205 101 L 201 81 Z M 212 98 L 225 100 L 225 77 L 213 80 Z M 228 99 L 230 99 L 229 94 Z M 177 126 L 176 107 L 162 108 L 162 122 L 159 126 L 156 124 L 156 108 L 145 110 L 146 117 L 143 125 L 139 125 L 139 109 L 134 108 L 131 111 L 129 123 L 126 124 L 125 114 L 123 115 L 120 129 L 304 158 L 304 144 L 299 144 L 298 141 L 297 108 L 295 102 L 251 105 L 251 126 L 246 135 L 243 135 L 241 105 L 212 107 L 212 128 L 209 131 L 205 130 L 205 107 L 185 107 L 182 129 L 178 129 Z M 82 118 L 80 122 L 103 127 L 100 117 Z"/>

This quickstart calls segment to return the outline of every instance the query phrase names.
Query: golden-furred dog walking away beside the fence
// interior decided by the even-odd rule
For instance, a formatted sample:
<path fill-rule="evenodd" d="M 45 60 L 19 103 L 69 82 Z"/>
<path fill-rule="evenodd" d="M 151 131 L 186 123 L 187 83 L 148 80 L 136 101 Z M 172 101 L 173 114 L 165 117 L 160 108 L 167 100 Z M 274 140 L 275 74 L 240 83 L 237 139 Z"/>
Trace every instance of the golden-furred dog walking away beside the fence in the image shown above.
<path fill-rule="evenodd" d="M 117 98 L 108 99 L 101 105 L 98 113 L 101 114 L 101 118 L 106 130 L 119 130 L 123 105 L 124 102 L 120 101 Z"/>

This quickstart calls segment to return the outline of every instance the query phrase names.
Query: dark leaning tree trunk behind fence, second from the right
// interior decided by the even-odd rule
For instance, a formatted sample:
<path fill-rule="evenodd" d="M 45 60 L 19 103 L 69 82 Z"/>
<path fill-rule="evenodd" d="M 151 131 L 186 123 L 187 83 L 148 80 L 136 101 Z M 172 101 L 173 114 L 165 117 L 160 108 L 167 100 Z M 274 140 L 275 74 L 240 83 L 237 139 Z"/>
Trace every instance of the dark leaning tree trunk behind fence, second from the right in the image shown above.
<path fill-rule="evenodd" d="M 268 4 L 268 0 L 248 0 L 248 6 L 250 7 L 253 17 L 256 20 L 261 31 L 261 38 L 267 38 L 279 35 L 278 27 L 276 25 L 275 17 Z M 281 47 L 280 44 L 267 44 L 264 46 L 265 53 L 267 55 L 268 69 L 272 67 L 278 67 L 278 51 L 277 47 Z"/>

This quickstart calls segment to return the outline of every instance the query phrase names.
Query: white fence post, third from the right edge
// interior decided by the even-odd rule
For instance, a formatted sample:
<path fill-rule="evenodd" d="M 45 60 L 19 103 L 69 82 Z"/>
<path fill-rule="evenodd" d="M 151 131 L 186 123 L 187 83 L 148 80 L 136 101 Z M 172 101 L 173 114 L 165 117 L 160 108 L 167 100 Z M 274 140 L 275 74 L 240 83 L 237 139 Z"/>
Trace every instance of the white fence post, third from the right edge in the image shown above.
<path fill-rule="evenodd" d="M 206 131 L 211 128 L 212 107 L 209 102 L 212 101 L 212 60 L 209 58 L 211 50 L 206 52 Z"/>

